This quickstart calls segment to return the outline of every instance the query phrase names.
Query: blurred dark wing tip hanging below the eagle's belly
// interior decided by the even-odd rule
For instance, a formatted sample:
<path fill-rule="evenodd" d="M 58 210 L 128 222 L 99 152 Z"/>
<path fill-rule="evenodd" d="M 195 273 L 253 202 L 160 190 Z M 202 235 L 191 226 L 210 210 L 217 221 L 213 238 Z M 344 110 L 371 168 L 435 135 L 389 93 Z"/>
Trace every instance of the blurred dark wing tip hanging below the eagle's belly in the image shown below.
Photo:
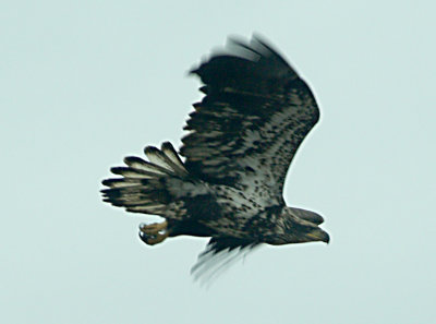
<path fill-rule="evenodd" d="M 259 243 L 237 238 L 211 238 L 191 268 L 194 280 L 210 285 L 230 265 L 257 248 Z"/>

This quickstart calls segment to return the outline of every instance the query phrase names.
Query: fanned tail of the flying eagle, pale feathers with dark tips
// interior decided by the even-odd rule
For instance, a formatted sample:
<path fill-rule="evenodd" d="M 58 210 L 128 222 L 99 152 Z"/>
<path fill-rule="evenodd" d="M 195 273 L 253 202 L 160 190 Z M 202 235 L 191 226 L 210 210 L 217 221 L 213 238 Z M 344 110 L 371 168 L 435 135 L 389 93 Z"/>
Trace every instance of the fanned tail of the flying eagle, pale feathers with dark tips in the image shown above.
<path fill-rule="evenodd" d="M 104 201 L 133 213 L 165 216 L 169 209 L 177 212 L 171 188 L 189 178 L 183 161 L 169 142 L 160 149 L 147 146 L 144 152 L 148 161 L 129 156 L 124 158 L 126 166 L 111 168 L 122 177 L 102 181 L 108 187 L 101 190 Z"/>

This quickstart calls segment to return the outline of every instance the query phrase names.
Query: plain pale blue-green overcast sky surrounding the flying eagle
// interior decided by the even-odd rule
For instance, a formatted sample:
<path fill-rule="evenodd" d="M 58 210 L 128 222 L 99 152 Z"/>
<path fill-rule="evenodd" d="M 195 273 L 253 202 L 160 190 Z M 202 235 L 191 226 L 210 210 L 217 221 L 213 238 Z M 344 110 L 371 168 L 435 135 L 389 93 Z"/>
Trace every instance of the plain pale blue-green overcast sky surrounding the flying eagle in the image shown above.
<path fill-rule="evenodd" d="M 0 322 L 431 323 L 436 316 L 434 1 L 2 1 Z M 206 239 L 156 247 L 101 202 L 145 145 L 180 145 L 228 35 L 267 37 L 320 122 L 284 200 L 330 244 L 263 247 L 208 289 Z"/>

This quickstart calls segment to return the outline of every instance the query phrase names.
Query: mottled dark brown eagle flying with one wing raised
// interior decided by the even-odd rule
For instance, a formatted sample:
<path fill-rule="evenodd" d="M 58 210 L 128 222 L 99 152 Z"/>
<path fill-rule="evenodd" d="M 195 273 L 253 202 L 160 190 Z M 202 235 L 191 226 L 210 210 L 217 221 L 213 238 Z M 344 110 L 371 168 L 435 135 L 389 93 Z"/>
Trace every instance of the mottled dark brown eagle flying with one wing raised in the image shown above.
<path fill-rule="evenodd" d="M 147 159 L 125 157 L 111 168 L 118 177 L 102 181 L 104 201 L 165 218 L 140 225 L 146 244 L 210 238 L 192 268 L 197 277 L 259 244 L 328 243 L 319 214 L 283 200 L 290 163 L 319 119 L 307 84 L 258 35 L 229 38 L 190 73 L 204 97 L 193 104 L 179 153 L 165 142 L 145 147 Z"/>

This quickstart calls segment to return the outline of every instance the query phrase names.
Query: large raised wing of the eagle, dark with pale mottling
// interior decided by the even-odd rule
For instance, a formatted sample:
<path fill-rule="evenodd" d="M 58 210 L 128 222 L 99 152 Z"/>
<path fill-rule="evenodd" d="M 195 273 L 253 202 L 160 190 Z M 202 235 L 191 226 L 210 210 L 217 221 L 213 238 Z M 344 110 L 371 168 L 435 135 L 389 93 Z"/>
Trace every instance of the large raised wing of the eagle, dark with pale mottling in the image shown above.
<path fill-rule="evenodd" d="M 180 153 L 199 179 L 244 191 L 256 202 L 282 202 L 289 164 L 319 118 L 296 72 L 259 37 L 230 40 L 191 71 L 205 84 Z"/>

